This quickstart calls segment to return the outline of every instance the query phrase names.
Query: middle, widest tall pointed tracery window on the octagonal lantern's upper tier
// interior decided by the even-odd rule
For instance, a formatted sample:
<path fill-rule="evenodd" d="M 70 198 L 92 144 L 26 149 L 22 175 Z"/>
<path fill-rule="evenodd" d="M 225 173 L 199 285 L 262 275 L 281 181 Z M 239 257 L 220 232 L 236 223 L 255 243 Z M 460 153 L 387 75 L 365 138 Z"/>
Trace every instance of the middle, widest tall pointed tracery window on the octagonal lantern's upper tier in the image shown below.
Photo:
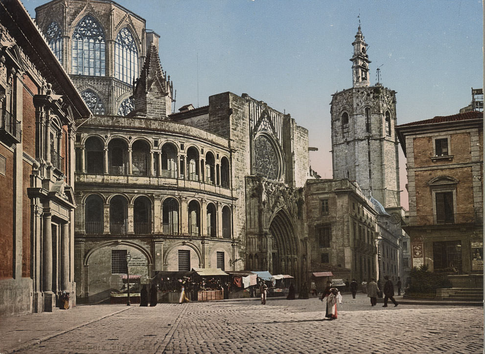
<path fill-rule="evenodd" d="M 72 34 L 72 74 L 104 76 L 105 55 L 103 29 L 91 15 L 86 15 Z"/>

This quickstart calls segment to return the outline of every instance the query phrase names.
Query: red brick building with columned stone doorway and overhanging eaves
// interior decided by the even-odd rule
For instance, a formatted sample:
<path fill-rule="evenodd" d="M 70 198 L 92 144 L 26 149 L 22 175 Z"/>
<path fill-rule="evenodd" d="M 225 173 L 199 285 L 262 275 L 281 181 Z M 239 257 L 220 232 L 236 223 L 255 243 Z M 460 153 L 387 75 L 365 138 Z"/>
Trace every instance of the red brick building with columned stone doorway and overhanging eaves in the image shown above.
<path fill-rule="evenodd" d="M 3 316 L 75 292 L 73 122 L 90 112 L 20 1 L 0 3 L 0 37 Z"/>

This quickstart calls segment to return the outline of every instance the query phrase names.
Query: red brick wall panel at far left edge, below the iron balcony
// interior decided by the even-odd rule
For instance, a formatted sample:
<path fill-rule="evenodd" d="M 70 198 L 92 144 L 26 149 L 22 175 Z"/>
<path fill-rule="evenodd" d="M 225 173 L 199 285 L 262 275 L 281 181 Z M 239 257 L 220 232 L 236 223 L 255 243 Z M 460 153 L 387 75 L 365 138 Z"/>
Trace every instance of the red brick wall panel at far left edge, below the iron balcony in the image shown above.
<path fill-rule="evenodd" d="M 0 279 L 13 277 L 13 153 L 0 145 L 5 176 L 0 174 Z"/>

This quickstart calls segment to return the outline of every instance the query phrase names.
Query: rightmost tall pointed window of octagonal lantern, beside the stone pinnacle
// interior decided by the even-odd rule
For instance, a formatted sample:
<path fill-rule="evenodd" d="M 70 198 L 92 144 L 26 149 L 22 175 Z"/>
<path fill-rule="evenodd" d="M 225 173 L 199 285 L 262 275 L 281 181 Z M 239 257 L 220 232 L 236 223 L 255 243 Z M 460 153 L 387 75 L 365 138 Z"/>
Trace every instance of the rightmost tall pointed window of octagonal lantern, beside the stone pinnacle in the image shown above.
<path fill-rule="evenodd" d="M 133 84 L 138 77 L 138 50 L 128 28 L 118 32 L 115 42 L 115 78 Z"/>

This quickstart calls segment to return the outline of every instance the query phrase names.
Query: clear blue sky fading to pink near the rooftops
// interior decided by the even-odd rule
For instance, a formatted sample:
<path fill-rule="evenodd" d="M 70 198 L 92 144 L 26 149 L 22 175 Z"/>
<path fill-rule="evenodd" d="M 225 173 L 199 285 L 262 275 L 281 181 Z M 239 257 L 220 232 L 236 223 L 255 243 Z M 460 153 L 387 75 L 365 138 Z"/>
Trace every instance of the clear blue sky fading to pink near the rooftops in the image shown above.
<path fill-rule="evenodd" d="M 23 0 L 32 17 L 45 0 Z M 397 92 L 397 124 L 456 114 L 483 86 L 481 0 L 119 0 L 158 33 L 175 110 L 247 93 L 309 131 L 311 165 L 332 178 L 331 95 L 352 86 L 359 20 L 370 83 Z M 407 209 L 400 150 L 401 204 Z"/>

